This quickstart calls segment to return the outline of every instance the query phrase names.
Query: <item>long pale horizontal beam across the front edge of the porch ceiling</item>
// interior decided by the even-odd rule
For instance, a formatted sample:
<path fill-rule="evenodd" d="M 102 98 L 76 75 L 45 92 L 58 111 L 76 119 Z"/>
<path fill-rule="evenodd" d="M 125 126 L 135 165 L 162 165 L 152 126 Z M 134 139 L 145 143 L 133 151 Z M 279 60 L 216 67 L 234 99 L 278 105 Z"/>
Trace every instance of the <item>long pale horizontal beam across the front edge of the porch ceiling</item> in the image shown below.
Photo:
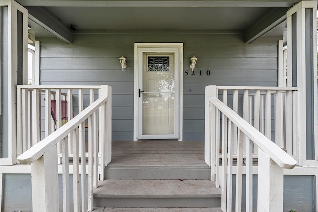
<path fill-rule="evenodd" d="M 16 0 L 23 6 L 291 7 L 299 0 Z"/>

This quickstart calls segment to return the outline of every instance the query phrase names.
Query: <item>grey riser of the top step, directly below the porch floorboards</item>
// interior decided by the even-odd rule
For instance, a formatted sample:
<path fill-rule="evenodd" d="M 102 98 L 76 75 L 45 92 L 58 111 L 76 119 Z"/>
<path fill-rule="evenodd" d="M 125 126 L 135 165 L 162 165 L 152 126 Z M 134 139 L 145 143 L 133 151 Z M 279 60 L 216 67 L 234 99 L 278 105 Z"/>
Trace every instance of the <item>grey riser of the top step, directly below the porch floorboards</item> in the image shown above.
<path fill-rule="evenodd" d="M 117 166 L 105 168 L 106 179 L 136 180 L 209 180 L 210 168 L 206 166 Z"/>

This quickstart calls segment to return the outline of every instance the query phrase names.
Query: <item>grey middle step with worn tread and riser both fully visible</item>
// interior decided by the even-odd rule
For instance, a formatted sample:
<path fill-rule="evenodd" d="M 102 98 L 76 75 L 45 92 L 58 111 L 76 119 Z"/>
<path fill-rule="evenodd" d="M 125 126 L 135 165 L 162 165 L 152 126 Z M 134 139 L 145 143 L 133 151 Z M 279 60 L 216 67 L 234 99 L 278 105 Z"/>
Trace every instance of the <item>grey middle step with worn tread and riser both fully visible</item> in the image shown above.
<path fill-rule="evenodd" d="M 94 190 L 95 207 L 211 208 L 221 190 L 210 180 L 105 180 Z"/>

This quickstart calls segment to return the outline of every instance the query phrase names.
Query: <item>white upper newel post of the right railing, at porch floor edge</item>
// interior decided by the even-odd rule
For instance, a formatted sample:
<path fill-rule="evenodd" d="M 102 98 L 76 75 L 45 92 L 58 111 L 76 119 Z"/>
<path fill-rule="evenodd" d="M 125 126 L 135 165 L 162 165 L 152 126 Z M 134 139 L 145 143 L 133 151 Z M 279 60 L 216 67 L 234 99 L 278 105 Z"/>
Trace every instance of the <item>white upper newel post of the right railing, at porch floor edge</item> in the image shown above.
<path fill-rule="evenodd" d="M 205 87 L 205 117 L 204 117 L 204 160 L 209 166 L 213 166 L 212 160 L 214 157 L 211 157 L 211 153 L 215 152 L 213 145 L 215 142 L 213 141 L 213 131 L 212 127 L 214 127 L 212 115 L 215 115 L 214 107 L 212 107 L 210 103 L 210 98 L 217 97 L 217 87 L 215 85 L 209 85 Z M 212 159 L 212 160 L 211 160 Z M 211 170 L 214 170 L 211 167 Z M 213 174 L 211 173 L 211 178 L 213 178 Z M 214 180 L 214 179 L 211 179 Z"/>

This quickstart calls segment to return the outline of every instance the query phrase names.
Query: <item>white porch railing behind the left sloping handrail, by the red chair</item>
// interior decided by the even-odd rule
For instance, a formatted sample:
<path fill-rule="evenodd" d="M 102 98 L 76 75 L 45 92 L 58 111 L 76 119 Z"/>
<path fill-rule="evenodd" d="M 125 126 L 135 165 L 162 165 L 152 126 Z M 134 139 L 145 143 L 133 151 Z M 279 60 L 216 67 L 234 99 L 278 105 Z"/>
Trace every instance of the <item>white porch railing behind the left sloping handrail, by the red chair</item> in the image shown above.
<path fill-rule="evenodd" d="M 54 130 L 71 120 L 75 114 L 94 102 L 100 88 L 100 86 L 18 85 L 17 156 L 50 135 Z M 53 120 L 51 115 L 51 99 L 56 101 L 56 120 Z M 77 101 L 74 101 L 76 99 Z M 62 117 L 65 112 L 62 112 L 61 100 L 67 102 L 66 117 Z M 96 113 L 94 116 L 96 116 Z M 81 155 L 81 143 L 79 148 Z M 85 150 L 85 148 L 83 149 Z M 62 155 L 59 143 L 58 154 L 61 162 Z M 87 154 L 88 152 L 86 152 L 86 156 Z M 69 142 L 69 157 L 72 157 L 72 142 Z"/>

